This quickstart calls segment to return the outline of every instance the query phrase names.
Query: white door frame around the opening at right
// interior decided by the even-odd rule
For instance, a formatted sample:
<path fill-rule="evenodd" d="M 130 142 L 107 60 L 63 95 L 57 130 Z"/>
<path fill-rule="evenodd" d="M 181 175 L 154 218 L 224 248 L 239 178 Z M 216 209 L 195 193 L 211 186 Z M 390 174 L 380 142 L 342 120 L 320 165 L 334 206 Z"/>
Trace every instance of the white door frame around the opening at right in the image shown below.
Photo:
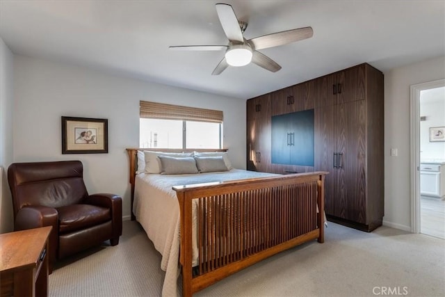
<path fill-rule="evenodd" d="M 420 92 L 445 86 L 445 79 L 410 86 L 411 232 L 420 233 Z"/>

